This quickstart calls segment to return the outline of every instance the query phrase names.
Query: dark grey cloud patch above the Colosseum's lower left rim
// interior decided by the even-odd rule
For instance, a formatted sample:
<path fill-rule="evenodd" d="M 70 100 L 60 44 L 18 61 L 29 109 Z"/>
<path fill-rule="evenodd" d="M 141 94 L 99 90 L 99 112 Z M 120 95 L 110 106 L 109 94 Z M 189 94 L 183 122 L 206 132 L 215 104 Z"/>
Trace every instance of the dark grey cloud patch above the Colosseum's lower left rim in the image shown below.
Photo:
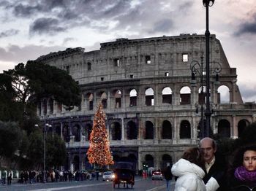
<path fill-rule="evenodd" d="M 67 28 L 59 26 L 59 20 L 54 18 L 39 18 L 29 27 L 31 34 L 56 34 L 57 32 L 66 31 Z"/>

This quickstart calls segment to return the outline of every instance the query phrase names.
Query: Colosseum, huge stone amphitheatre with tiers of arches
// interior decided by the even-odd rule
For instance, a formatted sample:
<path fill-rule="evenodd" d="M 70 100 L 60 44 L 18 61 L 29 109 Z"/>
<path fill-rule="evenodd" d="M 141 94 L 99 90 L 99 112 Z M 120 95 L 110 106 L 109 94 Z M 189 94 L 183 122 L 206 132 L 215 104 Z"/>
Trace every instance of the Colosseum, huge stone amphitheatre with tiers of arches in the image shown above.
<path fill-rule="evenodd" d="M 66 70 L 82 90 L 80 106 L 66 111 L 52 98 L 42 100 L 38 115 L 67 141 L 65 168 L 88 169 L 94 112 L 107 116 L 113 160 L 165 168 L 196 145 L 205 124 L 204 35 L 180 34 L 146 39 L 116 39 L 99 50 L 81 47 L 42 55 L 37 61 Z M 237 138 L 255 121 L 256 105 L 244 103 L 222 45 L 210 36 L 211 133 Z"/>

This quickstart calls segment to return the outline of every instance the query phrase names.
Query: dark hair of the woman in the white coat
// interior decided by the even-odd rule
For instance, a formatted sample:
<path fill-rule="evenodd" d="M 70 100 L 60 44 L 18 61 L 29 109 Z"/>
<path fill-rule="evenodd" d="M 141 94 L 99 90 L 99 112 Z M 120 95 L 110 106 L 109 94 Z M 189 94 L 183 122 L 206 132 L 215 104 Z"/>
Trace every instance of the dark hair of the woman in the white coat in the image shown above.
<path fill-rule="evenodd" d="M 185 160 L 189 160 L 190 163 L 194 163 L 201 168 L 205 168 L 203 156 L 201 155 L 200 149 L 198 147 L 192 147 L 187 149 L 184 154 L 181 156 L 181 158 Z"/>

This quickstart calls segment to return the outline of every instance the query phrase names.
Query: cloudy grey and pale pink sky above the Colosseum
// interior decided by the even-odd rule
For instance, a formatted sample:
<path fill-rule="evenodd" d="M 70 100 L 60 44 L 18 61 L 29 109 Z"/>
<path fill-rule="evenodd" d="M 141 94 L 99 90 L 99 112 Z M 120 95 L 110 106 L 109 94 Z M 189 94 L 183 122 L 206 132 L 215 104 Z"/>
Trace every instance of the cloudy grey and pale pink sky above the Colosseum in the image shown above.
<path fill-rule="evenodd" d="M 210 32 L 256 101 L 256 1 L 216 0 Z M 204 34 L 202 0 L 0 0 L 0 72 L 67 47 L 98 50 L 117 38 Z"/>

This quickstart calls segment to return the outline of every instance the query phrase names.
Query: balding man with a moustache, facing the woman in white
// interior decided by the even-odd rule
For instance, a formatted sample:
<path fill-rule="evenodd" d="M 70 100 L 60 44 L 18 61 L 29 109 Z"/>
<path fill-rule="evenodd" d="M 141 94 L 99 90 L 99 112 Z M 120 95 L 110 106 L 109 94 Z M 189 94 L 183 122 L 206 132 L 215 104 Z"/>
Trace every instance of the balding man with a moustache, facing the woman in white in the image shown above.
<path fill-rule="evenodd" d="M 217 191 L 227 190 L 227 163 L 225 157 L 220 153 L 217 154 L 217 144 L 214 139 L 209 137 L 200 140 L 200 151 L 203 155 L 204 169 L 206 176 L 203 182 L 206 184 L 209 179 L 214 178 L 219 185 Z"/>

